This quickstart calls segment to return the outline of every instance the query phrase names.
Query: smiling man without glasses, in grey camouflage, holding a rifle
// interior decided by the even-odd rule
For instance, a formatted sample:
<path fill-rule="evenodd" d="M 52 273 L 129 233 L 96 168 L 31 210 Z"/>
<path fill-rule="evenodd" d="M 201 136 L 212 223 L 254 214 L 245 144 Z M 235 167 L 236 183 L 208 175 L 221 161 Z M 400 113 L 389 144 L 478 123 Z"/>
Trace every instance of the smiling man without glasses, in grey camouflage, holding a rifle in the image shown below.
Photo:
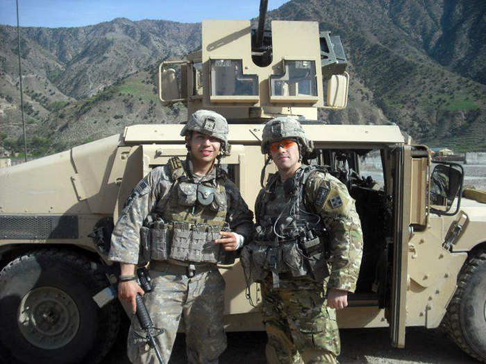
<path fill-rule="evenodd" d="M 228 124 L 216 112 L 199 110 L 181 131 L 189 151 L 154 168 L 126 201 L 112 233 L 109 258 L 121 266 L 119 299 L 143 295 L 169 362 L 181 316 L 189 363 L 217 363 L 226 349 L 224 279 L 218 263 L 231 264 L 235 250 L 252 239 L 253 214 L 219 166 L 229 155 Z M 218 163 L 215 164 L 215 161 Z M 150 262 L 153 290 L 143 292 L 135 267 Z M 132 363 L 157 363 L 135 318 L 128 333 Z"/>

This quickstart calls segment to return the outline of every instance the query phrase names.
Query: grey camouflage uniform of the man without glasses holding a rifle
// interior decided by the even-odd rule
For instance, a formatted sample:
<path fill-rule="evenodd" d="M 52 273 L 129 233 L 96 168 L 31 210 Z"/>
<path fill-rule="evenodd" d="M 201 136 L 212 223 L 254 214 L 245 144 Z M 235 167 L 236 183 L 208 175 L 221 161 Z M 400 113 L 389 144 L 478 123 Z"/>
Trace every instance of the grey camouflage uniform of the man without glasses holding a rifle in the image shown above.
<path fill-rule="evenodd" d="M 225 147 L 228 147 L 227 143 Z M 182 166 L 173 168 L 173 164 L 177 164 L 176 159 L 171 159 L 166 166 L 154 168 L 137 184 L 113 230 L 109 259 L 131 264 L 151 261 L 149 275 L 153 290 L 146 293 L 143 300 L 155 326 L 164 329 L 156 340 L 166 363 L 181 317 L 188 361 L 217 362 L 226 349 L 224 279 L 217 263 L 231 263 L 235 252 L 224 252 L 214 239 L 219 239 L 219 231 L 224 227 L 251 239 L 253 214 L 235 184 L 219 166 L 198 178 L 192 173 L 189 155 Z M 196 182 L 194 185 L 197 187 L 211 187 L 217 196 L 217 208 L 212 209 L 211 205 L 199 202 L 182 204 L 181 198 L 191 198 L 191 193 L 184 195 L 184 191 L 190 190 L 193 185 L 189 182 Z M 160 229 L 142 226 L 149 214 L 158 214 L 160 221 L 163 219 Z M 187 232 L 182 228 L 178 230 L 183 225 L 191 229 L 187 249 L 181 248 L 181 245 L 171 249 L 167 248 L 169 245 L 162 244 L 162 241 L 174 240 L 179 230 L 181 234 Z M 143 232 L 151 234 L 150 246 L 146 246 L 144 239 L 141 243 L 141 231 L 142 235 Z M 161 234 L 167 234 L 167 241 L 161 239 Z M 195 239 L 199 238 L 206 242 L 198 248 Z M 143 331 L 133 316 L 128 334 L 128 358 L 133 363 L 158 363 L 155 352 L 140 336 L 143 336 Z"/>

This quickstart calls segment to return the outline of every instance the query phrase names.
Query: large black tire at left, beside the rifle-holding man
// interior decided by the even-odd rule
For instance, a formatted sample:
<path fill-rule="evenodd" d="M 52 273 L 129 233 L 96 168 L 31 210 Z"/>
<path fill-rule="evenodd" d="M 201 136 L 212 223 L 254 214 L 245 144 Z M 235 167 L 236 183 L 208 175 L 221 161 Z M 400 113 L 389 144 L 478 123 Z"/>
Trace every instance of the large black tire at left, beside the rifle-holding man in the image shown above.
<path fill-rule="evenodd" d="M 81 254 L 42 249 L 0 272 L 0 340 L 12 362 L 99 363 L 119 330 L 117 300 L 92 296 L 107 286 L 99 265 Z"/>

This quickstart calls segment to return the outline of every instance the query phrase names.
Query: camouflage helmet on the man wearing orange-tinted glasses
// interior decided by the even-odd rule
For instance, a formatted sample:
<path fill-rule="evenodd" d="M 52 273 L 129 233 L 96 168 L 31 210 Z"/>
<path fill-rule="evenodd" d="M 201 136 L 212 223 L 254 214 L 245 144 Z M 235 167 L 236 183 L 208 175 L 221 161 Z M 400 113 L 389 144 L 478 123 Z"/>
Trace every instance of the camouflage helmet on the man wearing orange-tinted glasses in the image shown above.
<path fill-rule="evenodd" d="M 295 139 L 299 144 L 301 157 L 312 153 L 314 144 L 305 137 L 299 121 L 290 116 L 278 116 L 265 124 L 262 133 L 262 154 L 269 153 L 269 145 L 282 139 Z"/>

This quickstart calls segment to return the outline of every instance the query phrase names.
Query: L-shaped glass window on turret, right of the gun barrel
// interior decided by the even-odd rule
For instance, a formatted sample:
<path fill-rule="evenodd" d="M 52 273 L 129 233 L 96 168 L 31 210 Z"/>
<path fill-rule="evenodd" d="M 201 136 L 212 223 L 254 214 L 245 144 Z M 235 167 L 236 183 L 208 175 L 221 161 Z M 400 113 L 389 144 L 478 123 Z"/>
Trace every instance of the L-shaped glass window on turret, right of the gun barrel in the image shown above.
<path fill-rule="evenodd" d="M 271 96 L 317 96 L 314 61 L 284 60 L 283 74 L 270 76 Z"/>

